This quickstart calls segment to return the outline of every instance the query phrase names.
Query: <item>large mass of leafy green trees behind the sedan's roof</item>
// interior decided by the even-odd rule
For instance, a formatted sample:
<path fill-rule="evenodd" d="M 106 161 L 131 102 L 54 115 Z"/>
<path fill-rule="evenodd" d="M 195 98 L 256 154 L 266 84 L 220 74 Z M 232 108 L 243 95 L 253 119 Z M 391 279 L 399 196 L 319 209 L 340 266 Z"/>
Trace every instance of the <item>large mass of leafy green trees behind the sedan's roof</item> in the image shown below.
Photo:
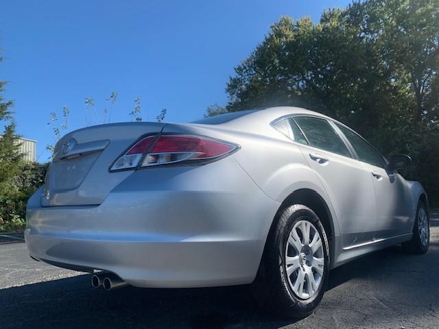
<path fill-rule="evenodd" d="M 302 106 L 353 127 L 439 199 L 439 1 L 354 1 L 285 16 L 235 67 L 226 111 Z M 209 110 L 207 115 L 219 112 Z"/>

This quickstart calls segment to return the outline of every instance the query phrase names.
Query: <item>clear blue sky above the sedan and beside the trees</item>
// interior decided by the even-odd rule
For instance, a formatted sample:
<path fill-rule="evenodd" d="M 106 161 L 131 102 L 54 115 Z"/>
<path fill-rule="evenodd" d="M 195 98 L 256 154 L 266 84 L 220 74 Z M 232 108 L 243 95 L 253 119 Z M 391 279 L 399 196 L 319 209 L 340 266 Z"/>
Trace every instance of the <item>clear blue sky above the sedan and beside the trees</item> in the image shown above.
<path fill-rule="evenodd" d="M 134 98 L 142 116 L 191 121 L 224 105 L 233 67 L 282 15 L 318 21 L 329 7 L 351 1 L 3 1 L 0 80 L 15 101 L 17 132 L 38 140 L 38 160 L 54 141 L 49 113 L 71 111 L 69 130 L 86 125 L 84 99 L 95 121 L 119 93 L 112 121 L 130 121 Z"/>

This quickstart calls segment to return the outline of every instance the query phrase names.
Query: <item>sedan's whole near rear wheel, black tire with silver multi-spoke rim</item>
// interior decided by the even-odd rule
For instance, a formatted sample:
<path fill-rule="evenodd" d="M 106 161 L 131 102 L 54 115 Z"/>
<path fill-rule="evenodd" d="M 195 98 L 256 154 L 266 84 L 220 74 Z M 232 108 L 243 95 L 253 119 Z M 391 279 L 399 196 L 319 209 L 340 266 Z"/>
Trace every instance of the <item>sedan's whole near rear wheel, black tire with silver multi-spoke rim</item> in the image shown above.
<path fill-rule="evenodd" d="M 307 317 L 322 300 L 329 273 L 329 245 L 320 219 L 294 205 L 276 217 L 252 290 L 276 315 Z"/>

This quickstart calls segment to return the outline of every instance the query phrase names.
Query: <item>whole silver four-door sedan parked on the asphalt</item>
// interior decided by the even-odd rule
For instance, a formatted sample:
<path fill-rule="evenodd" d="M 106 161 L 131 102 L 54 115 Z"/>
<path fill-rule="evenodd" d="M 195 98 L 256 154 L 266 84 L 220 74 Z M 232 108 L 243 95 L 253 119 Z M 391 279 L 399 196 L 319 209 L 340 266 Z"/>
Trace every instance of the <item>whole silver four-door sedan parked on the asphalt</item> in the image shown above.
<path fill-rule="evenodd" d="M 302 108 L 86 127 L 57 143 L 25 239 L 94 287 L 251 283 L 264 308 L 305 317 L 330 269 L 397 243 L 427 252 L 410 161 Z"/>

